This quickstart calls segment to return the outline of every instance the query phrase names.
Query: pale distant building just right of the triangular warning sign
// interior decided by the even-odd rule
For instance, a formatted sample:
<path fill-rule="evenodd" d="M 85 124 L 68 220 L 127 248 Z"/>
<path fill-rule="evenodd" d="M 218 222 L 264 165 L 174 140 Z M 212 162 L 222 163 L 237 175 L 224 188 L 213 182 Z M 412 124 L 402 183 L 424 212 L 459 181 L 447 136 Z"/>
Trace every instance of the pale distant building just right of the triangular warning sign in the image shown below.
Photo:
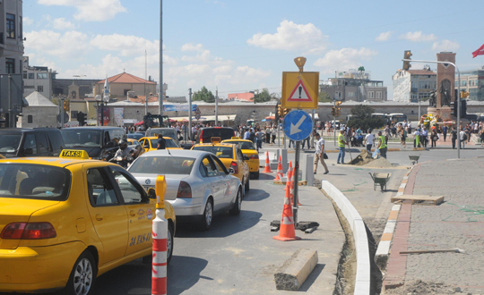
<path fill-rule="evenodd" d="M 387 100 L 387 89 L 381 80 L 371 80 L 370 73 L 350 70 L 336 73 L 335 78 L 319 86 L 330 98 L 341 101 L 381 102 Z"/>

